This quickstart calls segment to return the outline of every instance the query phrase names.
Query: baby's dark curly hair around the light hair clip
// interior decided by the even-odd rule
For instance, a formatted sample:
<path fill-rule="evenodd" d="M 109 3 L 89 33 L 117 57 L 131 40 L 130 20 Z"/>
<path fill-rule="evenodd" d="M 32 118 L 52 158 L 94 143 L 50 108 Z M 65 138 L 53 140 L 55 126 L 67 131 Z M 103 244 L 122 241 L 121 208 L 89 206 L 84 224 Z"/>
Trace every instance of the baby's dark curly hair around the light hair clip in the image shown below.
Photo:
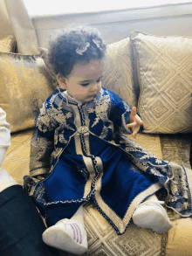
<path fill-rule="evenodd" d="M 85 48 L 86 45 L 89 46 Z M 76 52 L 77 49 L 84 49 L 81 50 L 83 53 Z M 56 75 L 60 74 L 65 78 L 79 62 L 85 65 L 93 59 L 103 60 L 105 55 L 106 43 L 101 38 L 100 32 L 88 25 L 69 25 L 58 31 L 49 41 L 48 62 L 51 69 Z"/>

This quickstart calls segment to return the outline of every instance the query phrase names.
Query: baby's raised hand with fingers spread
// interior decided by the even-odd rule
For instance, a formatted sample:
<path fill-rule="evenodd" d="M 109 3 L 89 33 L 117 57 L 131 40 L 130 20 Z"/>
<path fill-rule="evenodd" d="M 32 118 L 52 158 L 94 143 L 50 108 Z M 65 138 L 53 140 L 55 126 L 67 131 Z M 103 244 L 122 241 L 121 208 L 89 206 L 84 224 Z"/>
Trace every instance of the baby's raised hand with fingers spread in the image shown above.
<path fill-rule="evenodd" d="M 137 108 L 133 107 L 132 111 L 129 115 L 127 128 L 132 128 L 132 136 L 134 139 L 136 139 L 137 133 L 140 130 L 141 125 L 143 124 L 143 121 L 141 121 L 140 116 L 137 114 Z"/>

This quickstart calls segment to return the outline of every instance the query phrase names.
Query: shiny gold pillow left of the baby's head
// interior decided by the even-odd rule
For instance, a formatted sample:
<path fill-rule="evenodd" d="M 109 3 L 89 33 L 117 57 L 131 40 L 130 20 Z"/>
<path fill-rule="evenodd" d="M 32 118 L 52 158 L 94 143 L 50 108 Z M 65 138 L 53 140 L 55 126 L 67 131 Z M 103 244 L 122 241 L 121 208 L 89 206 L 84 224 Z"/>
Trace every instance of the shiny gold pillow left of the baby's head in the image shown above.
<path fill-rule="evenodd" d="M 0 107 L 10 131 L 34 128 L 34 118 L 55 90 L 40 55 L 0 52 Z"/>

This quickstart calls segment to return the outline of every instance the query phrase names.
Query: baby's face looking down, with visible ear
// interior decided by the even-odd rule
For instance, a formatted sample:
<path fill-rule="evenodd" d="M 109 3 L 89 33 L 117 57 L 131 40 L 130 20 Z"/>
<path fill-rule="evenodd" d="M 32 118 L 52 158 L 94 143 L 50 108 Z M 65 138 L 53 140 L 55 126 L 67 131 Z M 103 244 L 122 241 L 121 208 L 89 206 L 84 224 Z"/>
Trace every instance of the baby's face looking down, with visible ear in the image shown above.
<path fill-rule="evenodd" d="M 100 91 L 103 68 L 102 60 L 92 60 L 84 65 L 77 64 L 67 79 L 58 75 L 58 83 L 72 98 L 82 102 L 90 101 Z"/>

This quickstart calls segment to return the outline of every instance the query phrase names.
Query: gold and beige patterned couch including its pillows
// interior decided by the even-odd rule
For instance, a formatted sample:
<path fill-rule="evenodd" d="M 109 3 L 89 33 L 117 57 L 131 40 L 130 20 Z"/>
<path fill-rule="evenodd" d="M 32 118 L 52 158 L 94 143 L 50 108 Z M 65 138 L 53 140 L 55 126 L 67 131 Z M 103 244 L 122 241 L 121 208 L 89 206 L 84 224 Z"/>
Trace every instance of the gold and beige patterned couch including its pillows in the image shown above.
<path fill-rule="evenodd" d="M 23 177 L 29 175 L 34 118 L 58 84 L 46 61 L 46 49 L 40 49 L 39 55 L 22 55 L 14 52 L 15 45 L 13 36 L 0 40 L 0 107 L 11 128 L 11 145 L 2 168 L 23 185 Z M 145 131 L 135 142 L 155 156 L 187 169 L 191 169 L 191 50 L 192 38 L 133 31 L 128 38 L 107 45 L 103 78 L 103 86 L 138 107 Z M 161 190 L 157 196 L 163 200 L 166 191 Z M 88 202 L 84 213 L 89 249 L 84 255 L 192 255 L 192 219 L 180 218 L 165 209 L 173 224 L 168 232 L 158 234 L 131 222 L 127 232 L 117 236 Z"/>

